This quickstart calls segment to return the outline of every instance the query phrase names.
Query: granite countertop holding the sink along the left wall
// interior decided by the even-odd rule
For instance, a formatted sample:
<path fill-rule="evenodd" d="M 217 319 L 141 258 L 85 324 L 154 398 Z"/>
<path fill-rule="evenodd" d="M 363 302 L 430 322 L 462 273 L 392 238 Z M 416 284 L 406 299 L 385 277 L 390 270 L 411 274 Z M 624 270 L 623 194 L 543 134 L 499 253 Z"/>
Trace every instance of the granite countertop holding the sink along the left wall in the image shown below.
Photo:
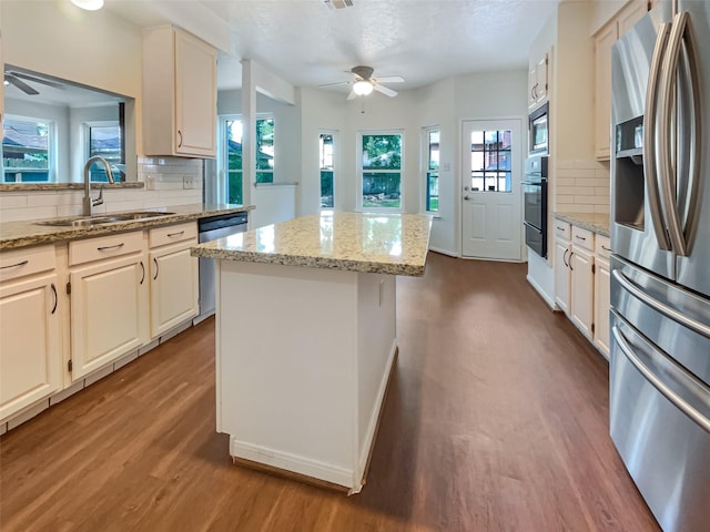
<path fill-rule="evenodd" d="M 153 207 L 140 209 L 146 212 L 165 212 L 164 216 L 113 222 L 89 227 L 55 227 L 37 225 L 37 222 L 41 222 L 40 219 L 4 222 L 0 223 L 0 249 L 14 249 L 19 247 L 36 246 L 38 244 L 49 244 L 60 241 L 73 241 L 78 238 L 88 238 L 111 233 L 122 233 L 124 231 L 156 227 L 160 225 L 176 224 L 180 222 L 204 218 L 207 216 L 214 216 L 216 214 L 240 213 L 244 211 L 251 211 L 253 208 L 253 205 L 244 206 L 235 204 L 196 203 L 192 205 L 171 205 L 170 207 Z M 95 216 L 110 216 L 112 214 L 121 213 L 101 213 L 97 214 Z"/>

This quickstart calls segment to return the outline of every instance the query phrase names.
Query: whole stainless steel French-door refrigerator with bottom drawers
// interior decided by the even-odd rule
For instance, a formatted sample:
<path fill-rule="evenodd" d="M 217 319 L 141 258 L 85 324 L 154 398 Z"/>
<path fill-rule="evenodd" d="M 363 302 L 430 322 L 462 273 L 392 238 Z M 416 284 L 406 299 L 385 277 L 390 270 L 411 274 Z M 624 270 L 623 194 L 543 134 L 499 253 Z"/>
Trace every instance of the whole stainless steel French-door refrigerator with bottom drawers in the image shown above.
<path fill-rule="evenodd" d="M 666 532 L 710 530 L 710 1 L 612 49 L 610 433 Z"/>

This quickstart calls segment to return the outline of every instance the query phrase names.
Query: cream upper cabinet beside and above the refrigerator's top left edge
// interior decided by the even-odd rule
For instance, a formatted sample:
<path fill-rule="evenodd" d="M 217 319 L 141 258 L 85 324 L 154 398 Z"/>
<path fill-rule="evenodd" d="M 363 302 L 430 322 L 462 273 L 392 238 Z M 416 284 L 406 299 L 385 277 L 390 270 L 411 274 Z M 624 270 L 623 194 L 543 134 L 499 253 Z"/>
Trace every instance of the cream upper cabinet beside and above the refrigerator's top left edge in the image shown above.
<path fill-rule="evenodd" d="M 611 145 L 611 47 L 649 9 L 647 0 L 631 0 L 595 33 L 595 155 L 606 161 Z"/>

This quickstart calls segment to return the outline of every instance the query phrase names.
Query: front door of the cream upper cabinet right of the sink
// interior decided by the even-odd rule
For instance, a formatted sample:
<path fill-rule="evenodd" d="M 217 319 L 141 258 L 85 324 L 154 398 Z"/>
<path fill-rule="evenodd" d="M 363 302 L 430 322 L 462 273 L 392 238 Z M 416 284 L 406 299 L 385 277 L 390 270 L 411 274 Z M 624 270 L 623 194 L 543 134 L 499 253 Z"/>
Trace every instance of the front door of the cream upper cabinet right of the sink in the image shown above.
<path fill-rule="evenodd" d="M 175 152 L 215 156 L 216 51 L 175 31 Z"/>

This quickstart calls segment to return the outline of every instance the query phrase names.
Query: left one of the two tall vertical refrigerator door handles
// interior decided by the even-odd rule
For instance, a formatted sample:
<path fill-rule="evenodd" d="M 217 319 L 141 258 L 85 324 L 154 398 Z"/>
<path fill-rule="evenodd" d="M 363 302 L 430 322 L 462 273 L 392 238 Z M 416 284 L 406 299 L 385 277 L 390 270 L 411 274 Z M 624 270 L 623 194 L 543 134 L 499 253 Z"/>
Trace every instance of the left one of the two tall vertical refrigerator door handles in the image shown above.
<path fill-rule="evenodd" d="M 646 190 L 648 192 L 649 208 L 651 211 L 651 223 L 658 247 L 663 250 L 670 249 L 670 241 L 663 225 L 663 213 L 658 192 L 658 167 L 656 165 L 656 119 L 658 106 L 658 79 L 663 50 L 668 43 L 670 24 L 663 22 L 658 28 L 656 45 L 651 59 L 650 72 L 648 75 L 648 86 L 646 89 L 646 109 L 643 110 L 643 175 L 646 176 Z M 661 150 L 662 151 L 662 150 Z"/>

